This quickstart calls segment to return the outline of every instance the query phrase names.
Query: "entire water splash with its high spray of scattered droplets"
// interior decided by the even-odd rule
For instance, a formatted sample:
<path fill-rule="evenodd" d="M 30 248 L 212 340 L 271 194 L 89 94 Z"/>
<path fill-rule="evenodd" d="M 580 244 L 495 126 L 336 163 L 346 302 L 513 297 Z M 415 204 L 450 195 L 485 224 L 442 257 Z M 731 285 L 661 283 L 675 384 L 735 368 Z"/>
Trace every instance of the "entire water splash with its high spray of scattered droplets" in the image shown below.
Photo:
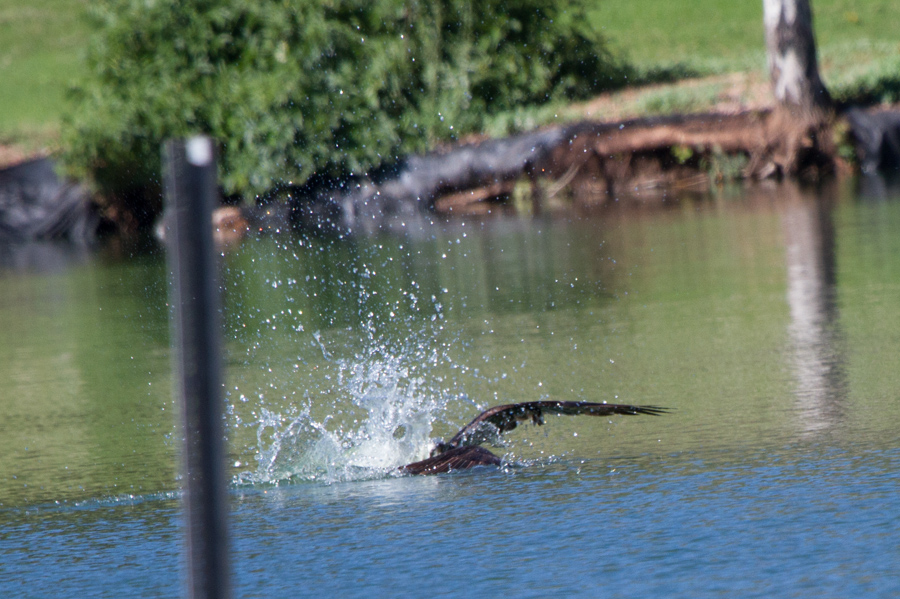
<path fill-rule="evenodd" d="M 278 293 L 255 285 L 258 305 L 234 304 L 234 340 L 248 345 L 230 389 L 240 399 L 230 406 L 230 439 L 235 468 L 256 462 L 237 484 L 389 475 L 426 457 L 436 420 L 468 402 L 457 389 L 467 369 L 453 357 L 463 344 L 447 330 L 447 289 L 429 281 L 423 291 L 403 266 L 412 255 L 405 244 L 301 243 L 305 276 L 291 264 Z M 284 271 L 281 255 L 261 252 L 241 277 Z"/>

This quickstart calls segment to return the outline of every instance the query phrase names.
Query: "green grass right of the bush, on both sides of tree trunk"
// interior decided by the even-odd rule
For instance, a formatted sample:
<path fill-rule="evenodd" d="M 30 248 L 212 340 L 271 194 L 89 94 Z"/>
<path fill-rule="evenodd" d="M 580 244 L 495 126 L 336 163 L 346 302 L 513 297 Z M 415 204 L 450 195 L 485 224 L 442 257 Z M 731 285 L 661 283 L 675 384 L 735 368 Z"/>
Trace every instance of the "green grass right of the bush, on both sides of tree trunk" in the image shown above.
<path fill-rule="evenodd" d="M 758 0 L 601 0 L 591 16 L 638 72 L 673 65 L 697 74 L 766 69 Z M 896 0 L 814 0 L 822 76 L 836 96 L 852 95 L 857 82 L 900 78 L 897 23 Z"/>

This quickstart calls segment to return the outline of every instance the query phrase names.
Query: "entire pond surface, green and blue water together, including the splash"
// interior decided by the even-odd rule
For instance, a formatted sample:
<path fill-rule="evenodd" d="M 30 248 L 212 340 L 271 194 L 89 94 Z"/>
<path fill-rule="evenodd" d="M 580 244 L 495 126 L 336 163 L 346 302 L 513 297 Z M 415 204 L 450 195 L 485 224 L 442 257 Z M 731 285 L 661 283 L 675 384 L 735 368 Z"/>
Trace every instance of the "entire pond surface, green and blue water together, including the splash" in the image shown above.
<path fill-rule="evenodd" d="M 897 199 L 247 240 L 223 262 L 236 596 L 897 596 Z M 57 250 L 0 271 L 0 595 L 176 595 L 163 256 Z M 674 410 L 396 475 L 542 398 Z"/>

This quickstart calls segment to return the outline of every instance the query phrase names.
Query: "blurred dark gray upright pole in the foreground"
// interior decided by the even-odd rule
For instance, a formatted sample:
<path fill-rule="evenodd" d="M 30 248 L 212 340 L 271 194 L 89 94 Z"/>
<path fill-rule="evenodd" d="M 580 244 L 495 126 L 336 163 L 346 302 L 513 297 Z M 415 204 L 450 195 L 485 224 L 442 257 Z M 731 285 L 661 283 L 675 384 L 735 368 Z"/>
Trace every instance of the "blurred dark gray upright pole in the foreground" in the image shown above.
<path fill-rule="evenodd" d="M 169 267 L 174 276 L 175 370 L 182 404 L 188 596 L 231 596 L 228 494 L 222 422 L 221 318 L 212 238 L 216 163 L 212 140 L 163 148 Z"/>

